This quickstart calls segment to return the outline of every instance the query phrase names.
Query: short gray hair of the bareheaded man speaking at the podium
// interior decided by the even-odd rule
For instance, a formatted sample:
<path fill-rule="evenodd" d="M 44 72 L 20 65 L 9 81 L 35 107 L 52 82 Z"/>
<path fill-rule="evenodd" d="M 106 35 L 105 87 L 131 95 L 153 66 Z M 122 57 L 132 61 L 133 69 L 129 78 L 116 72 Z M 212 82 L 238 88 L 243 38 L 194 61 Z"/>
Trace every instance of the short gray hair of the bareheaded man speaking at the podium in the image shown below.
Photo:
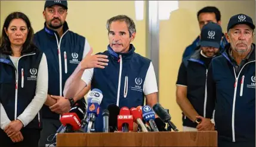
<path fill-rule="evenodd" d="M 129 37 L 131 37 L 132 33 L 136 32 L 134 21 L 127 15 L 116 15 L 115 17 L 112 17 L 109 20 L 107 20 L 107 31 L 110 31 L 110 24 L 115 21 L 124 21 L 127 24 L 129 30 Z"/>

